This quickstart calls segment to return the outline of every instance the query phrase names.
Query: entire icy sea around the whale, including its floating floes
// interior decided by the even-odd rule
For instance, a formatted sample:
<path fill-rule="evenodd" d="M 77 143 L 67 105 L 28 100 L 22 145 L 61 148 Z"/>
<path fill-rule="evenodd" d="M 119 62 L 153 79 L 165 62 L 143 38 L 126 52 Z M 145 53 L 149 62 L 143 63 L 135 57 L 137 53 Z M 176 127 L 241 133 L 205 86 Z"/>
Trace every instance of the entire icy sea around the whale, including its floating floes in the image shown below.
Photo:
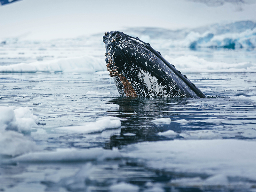
<path fill-rule="evenodd" d="M 255 50 L 149 40 L 207 98 L 120 97 L 100 36 L 0 47 L 0 190 L 256 191 Z"/>

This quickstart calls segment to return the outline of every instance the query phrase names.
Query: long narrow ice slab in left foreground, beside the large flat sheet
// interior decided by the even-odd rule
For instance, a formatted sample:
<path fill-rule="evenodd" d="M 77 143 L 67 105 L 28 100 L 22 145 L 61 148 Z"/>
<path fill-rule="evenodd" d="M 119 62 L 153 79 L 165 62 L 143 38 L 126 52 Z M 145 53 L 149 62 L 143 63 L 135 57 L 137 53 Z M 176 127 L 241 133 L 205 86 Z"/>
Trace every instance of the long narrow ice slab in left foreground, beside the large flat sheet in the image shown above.
<path fill-rule="evenodd" d="M 31 152 L 13 158 L 12 162 L 77 162 L 102 161 L 119 159 L 122 155 L 117 149 L 90 148 L 78 150 L 75 148 L 57 149 L 56 151 Z"/>

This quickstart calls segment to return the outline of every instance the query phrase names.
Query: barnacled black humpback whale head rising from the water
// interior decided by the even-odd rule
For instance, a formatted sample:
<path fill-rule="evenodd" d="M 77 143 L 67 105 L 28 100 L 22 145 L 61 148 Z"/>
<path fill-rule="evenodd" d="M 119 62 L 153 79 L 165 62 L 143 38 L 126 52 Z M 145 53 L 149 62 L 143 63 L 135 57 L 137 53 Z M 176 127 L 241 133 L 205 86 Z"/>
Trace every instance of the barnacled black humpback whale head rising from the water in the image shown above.
<path fill-rule="evenodd" d="M 119 31 L 106 32 L 106 64 L 120 96 L 154 98 L 205 98 L 149 43 Z"/>

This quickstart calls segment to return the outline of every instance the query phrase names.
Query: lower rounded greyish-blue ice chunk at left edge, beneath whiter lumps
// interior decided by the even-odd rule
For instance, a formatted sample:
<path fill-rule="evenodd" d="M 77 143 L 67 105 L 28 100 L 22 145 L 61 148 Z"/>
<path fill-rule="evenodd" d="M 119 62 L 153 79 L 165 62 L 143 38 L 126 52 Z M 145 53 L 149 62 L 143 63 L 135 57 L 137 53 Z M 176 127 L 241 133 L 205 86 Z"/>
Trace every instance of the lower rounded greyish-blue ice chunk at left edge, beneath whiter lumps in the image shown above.
<path fill-rule="evenodd" d="M 0 154 L 18 156 L 36 150 L 36 143 L 14 131 L 0 131 Z"/>

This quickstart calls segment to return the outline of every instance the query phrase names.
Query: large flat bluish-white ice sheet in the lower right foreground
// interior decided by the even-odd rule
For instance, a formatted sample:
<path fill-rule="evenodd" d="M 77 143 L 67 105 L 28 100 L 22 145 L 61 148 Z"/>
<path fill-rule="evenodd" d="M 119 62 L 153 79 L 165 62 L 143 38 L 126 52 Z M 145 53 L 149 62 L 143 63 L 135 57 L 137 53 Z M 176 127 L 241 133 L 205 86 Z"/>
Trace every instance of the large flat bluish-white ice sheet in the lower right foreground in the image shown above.
<path fill-rule="evenodd" d="M 230 177 L 241 178 L 240 182 L 256 180 L 255 148 L 256 141 L 246 140 L 169 140 L 137 143 L 121 152 L 143 159 L 149 168 L 184 173 L 184 177 L 222 177 L 227 185 Z M 199 185 L 201 180 L 193 182 Z"/>

